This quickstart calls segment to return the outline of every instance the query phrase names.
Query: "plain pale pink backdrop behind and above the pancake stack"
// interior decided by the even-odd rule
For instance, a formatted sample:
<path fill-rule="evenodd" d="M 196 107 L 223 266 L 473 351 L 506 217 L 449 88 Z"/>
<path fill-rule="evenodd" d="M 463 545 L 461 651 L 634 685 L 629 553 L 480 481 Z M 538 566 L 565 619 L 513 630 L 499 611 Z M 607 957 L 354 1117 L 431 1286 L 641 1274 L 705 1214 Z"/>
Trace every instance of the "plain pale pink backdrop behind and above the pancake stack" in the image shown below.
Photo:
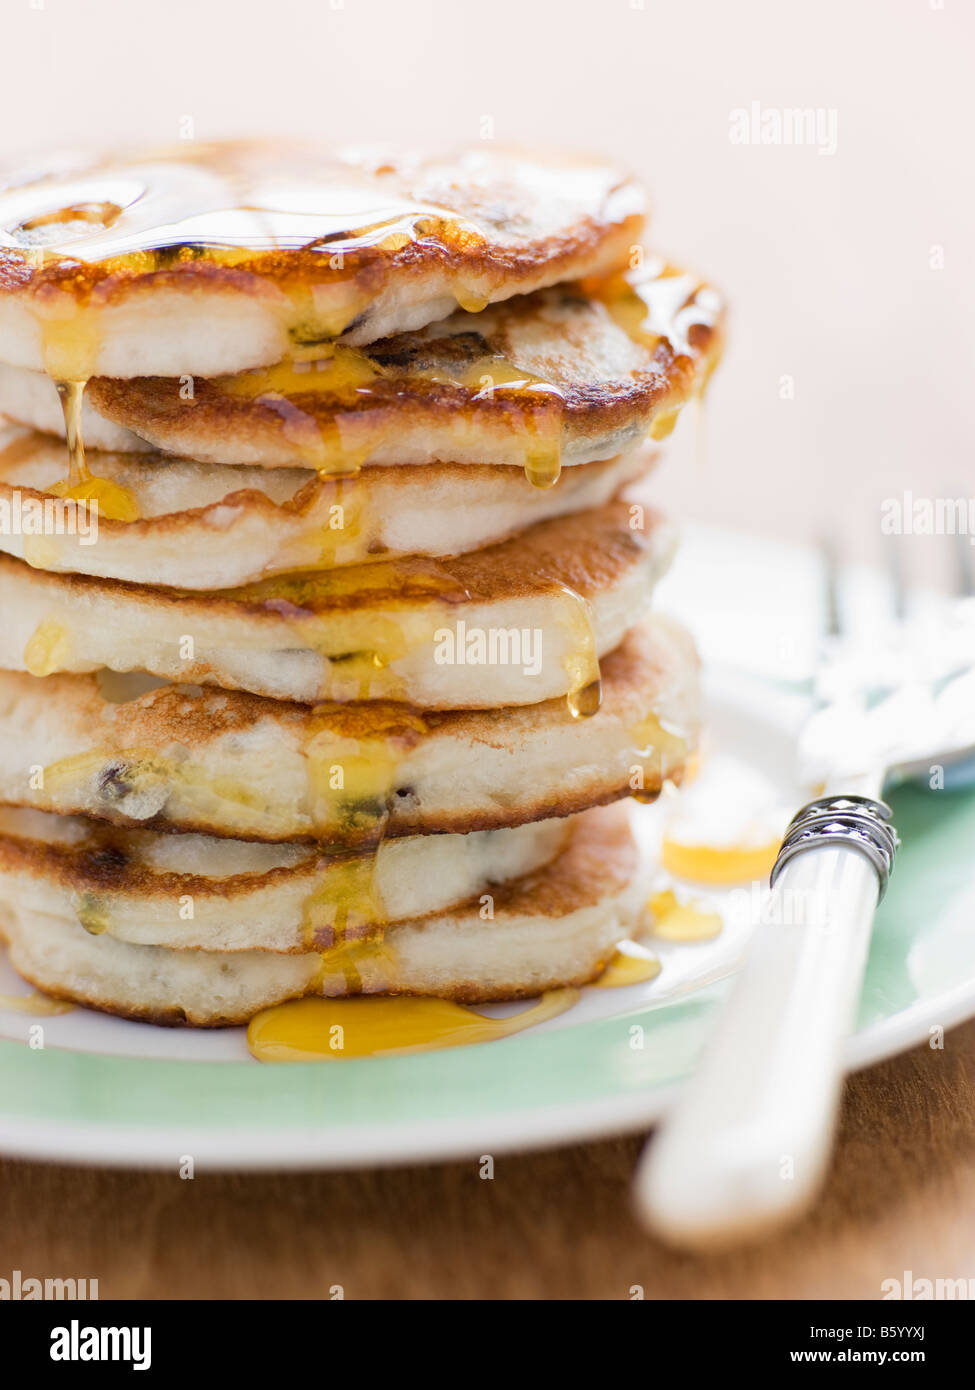
<path fill-rule="evenodd" d="M 4 156 L 302 132 L 604 150 L 651 242 L 733 304 L 687 517 L 879 556 L 879 505 L 972 481 L 975 7 L 962 0 L 4 0 Z M 836 111 L 837 149 L 733 145 L 730 113 Z M 940 247 L 943 268 L 932 268 Z M 935 253 L 939 254 L 939 253 Z M 782 378 L 794 399 L 782 399 Z M 950 545 L 903 546 L 947 573 Z"/>

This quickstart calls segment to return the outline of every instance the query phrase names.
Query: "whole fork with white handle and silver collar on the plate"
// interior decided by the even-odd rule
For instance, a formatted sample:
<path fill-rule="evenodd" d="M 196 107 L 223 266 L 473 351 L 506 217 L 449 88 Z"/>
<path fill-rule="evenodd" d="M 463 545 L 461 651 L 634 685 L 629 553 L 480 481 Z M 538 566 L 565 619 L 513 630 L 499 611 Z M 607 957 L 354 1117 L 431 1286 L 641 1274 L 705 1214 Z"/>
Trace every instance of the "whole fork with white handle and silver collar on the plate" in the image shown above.
<path fill-rule="evenodd" d="M 918 626 L 894 543 L 894 623 L 879 649 L 844 634 L 836 557 L 822 548 L 826 634 L 800 766 L 804 783 L 823 792 L 786 831 L 715 1034 L 640 1161 L 637 1212 L 672 1244 L 755 1238 L 815 1197 L 832 1150 L 843 1042 L 897 848 L 882 791 L 975 752 L 971 556 L 956 557 L 962 598 Z"/>

